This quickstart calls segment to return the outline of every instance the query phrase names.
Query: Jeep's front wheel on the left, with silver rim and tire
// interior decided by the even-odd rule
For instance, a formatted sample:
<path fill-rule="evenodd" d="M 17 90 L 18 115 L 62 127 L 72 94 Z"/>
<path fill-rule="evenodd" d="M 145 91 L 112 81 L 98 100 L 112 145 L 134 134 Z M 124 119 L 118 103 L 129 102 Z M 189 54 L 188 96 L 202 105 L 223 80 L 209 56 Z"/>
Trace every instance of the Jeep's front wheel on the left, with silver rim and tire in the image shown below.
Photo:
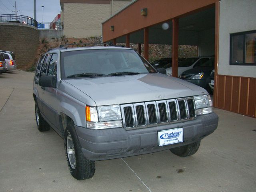
<path fill-rule="evenodd" d="M 70 174 L 77 180 L 92 178 L 95 161 L 85 158 L 73 123 L 68 123 L 64 134 L 64 146 Z"/>

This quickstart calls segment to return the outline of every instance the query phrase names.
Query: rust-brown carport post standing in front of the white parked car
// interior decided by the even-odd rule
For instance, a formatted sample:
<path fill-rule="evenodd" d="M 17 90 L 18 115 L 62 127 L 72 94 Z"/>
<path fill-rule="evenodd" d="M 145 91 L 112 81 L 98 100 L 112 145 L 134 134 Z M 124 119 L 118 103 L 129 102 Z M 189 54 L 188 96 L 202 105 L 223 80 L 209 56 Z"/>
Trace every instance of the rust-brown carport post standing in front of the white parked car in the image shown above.
<path fill-rule="evenodd" d="M 178 77 L 179 19 L 172 19 L 172 76 Z"/>

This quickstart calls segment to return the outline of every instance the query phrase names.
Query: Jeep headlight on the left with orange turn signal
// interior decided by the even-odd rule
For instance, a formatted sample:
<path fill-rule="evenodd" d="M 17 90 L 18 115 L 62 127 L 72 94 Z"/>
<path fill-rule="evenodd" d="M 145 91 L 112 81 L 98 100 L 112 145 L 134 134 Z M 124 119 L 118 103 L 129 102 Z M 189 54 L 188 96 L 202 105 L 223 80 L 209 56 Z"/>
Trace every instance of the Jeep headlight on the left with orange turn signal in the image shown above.
<path fill-rule="evenodd" d="M 86 126 L 91 129 L 122 127 L 120 106 L 86 106 Z"/>

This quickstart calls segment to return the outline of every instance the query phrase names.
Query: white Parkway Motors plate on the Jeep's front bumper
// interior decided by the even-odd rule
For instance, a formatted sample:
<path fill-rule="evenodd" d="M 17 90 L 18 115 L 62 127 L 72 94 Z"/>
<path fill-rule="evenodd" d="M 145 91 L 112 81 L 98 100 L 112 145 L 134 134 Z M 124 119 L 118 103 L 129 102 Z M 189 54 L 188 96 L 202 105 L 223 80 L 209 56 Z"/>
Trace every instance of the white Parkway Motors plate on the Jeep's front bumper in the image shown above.
<path fill-rule="evenodd" d="M 183 142 L 183 128 L 162 130 L 158 132 L 158 146 Z"/>

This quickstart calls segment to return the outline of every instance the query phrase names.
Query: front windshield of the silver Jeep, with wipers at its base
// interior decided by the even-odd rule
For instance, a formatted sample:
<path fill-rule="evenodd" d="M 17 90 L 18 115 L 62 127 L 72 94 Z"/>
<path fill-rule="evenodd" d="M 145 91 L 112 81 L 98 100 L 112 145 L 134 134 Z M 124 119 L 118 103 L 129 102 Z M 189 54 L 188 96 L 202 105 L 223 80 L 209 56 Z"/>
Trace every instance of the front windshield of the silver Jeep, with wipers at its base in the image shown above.
<path fill-rule="evenodd" d="M 156 73 L 134 50 L 97 49 L 61 53 L 62 78 Z"/>

